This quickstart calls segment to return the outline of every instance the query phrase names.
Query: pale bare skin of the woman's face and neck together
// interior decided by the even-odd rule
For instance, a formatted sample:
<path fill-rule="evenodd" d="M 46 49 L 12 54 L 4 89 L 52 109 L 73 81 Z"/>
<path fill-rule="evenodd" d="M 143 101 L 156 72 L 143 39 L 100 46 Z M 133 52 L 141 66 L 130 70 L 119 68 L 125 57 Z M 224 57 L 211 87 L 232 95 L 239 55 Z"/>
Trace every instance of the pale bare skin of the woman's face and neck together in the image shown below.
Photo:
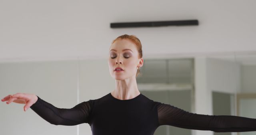
<path fill-rule="evenodd" d="M 143 66 L 143 58 L 138 58 L 136 45 L 128 39 L 116 40 L 111 45 L 109 54 L 110 75 L 116 80 L 116 89 L 111 92 L 111 95 L 120 100 L 138 96 L 140 91 L 136 82 L 136 72 L 138 67 Z M 124 71 L 116 72 L 114 71 L 116 67 L 121 67 Z"/>

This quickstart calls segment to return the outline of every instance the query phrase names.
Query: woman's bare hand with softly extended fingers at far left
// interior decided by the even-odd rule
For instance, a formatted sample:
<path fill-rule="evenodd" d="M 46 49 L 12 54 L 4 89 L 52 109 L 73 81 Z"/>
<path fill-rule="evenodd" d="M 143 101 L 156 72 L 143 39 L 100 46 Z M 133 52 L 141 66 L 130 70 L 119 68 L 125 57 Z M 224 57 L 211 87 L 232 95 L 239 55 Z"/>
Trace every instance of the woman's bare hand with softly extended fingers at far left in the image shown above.
<path fill-rule="evenodd" d="M 30 106 L 36 103 L 37 100 L 38 97 L 36 95 L 28 93 L 16 93 L 14 95 L 7 95 L 3 99 L 1 99 L 2 102 L 7 101 L 7 104 L 10 104 L 12 102 L 25 104 L 24 111 L 26 111 Z"/>

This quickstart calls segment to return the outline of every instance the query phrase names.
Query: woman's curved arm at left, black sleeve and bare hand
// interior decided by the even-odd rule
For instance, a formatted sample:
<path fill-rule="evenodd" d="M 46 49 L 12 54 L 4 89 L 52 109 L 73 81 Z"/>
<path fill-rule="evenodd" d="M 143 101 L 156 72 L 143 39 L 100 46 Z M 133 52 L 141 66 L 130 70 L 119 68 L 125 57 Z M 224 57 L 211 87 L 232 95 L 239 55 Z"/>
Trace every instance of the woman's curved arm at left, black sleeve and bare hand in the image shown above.
<path fill-rule="evenodd" d="M 78 125 L 89 123 L 93 100 L 79 103 L 71 109 L 57 108 L 37 95 L 28 93 L 7 95 L 1 101 L 6 101 L 7 104 L 12 102 L 25 104 L 24 111 L 30 107 L 43 119 L 54 125 Z"/>

